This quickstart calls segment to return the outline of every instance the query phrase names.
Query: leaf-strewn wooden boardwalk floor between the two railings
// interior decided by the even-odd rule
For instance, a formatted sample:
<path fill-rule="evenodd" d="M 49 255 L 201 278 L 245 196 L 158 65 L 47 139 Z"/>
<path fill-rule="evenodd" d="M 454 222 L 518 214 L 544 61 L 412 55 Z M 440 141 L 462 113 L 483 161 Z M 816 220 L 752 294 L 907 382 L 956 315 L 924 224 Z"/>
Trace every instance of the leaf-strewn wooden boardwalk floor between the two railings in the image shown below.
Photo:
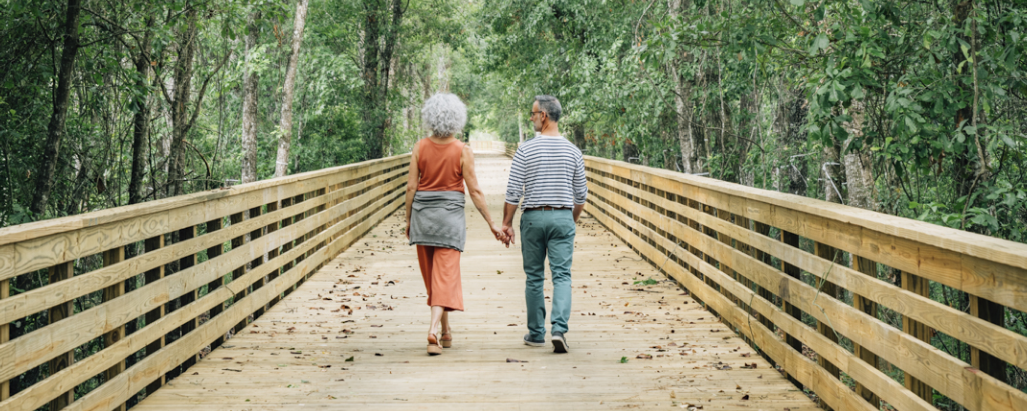
<path fill-rule="evenodd" d="M 478 167 L 498 220 L 509 160 L 483 153 Z M 524 345 L 520 250 L 493 240 L 467 206 L 467 311 L 451 316 L 455 341 L 443 356 L 425 354 L 424 285 L 398 211 L 136 409 L 817 409 L 587 215 L 572 351 Z M 634 284 L 648 278 L 659 283 Z"/>

